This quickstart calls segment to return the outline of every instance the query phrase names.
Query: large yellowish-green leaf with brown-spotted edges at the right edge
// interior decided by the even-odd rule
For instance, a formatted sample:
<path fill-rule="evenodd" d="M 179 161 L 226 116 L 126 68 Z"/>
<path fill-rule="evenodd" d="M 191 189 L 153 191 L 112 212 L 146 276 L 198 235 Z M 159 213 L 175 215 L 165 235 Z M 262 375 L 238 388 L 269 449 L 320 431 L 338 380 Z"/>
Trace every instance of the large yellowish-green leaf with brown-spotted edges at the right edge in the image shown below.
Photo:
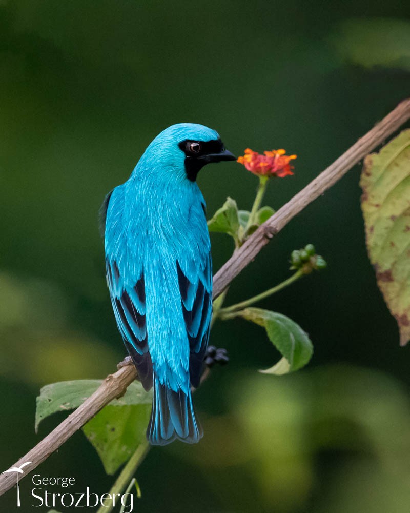
<path fill-rule="evenodd" d="M 367 252 L 405 345 L 410 340 L 410 130 L 367 155 L 360 185 Z"/>

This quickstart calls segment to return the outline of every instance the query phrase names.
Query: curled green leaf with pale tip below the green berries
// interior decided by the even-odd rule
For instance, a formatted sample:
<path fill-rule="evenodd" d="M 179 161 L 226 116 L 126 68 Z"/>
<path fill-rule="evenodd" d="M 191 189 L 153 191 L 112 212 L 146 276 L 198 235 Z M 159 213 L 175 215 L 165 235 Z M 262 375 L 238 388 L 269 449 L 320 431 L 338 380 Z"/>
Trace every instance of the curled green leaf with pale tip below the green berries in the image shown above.
<path fill-rule="evenodd" d="M 269 340 L 282 354 L 283 358 L 276 365 L 261 372 L 279 376 L 300 369 L 312 358 L 313 345 L 308 334 L 286 315 L 261 308 L 245 308 L 238 313 L 263 326 Z"/>

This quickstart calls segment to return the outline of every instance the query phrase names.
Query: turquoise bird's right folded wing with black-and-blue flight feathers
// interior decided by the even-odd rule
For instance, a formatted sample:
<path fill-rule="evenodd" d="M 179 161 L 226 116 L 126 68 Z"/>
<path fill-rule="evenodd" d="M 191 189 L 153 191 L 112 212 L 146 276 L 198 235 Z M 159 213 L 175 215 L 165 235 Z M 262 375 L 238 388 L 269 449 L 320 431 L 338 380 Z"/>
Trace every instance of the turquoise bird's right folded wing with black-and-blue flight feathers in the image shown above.
<path fill-rule="evenodd" d="M 190 345 L 190 381 L 199 385 L 203 359 L 207 350 L 212 315 L 212 260 L 211 253 L 199 269 L 196 279 L 188 279 L 177 261 L 178 284 L 183 319 Z"/>

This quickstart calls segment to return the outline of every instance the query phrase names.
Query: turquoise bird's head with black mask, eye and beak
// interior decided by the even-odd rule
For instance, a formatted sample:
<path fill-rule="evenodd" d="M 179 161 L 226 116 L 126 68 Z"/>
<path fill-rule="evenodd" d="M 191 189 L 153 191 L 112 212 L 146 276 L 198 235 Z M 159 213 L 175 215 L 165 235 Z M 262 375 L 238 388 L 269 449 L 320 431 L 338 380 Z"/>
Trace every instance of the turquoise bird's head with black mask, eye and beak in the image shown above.
<path fill-rule="evenodd" d="M 233 161 L 215 130 L 194 123 L 172 125 L 158 134 L 139 164 L 161 173 L 195 182 L 199 170 L 210 162 Z"/>

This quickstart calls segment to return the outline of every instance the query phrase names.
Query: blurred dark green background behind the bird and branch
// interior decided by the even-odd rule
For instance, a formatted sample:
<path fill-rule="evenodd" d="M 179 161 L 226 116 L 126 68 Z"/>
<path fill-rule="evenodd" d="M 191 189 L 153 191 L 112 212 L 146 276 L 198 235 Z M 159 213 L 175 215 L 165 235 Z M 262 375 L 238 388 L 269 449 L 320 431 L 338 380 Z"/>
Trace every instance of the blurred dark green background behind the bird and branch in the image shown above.
<path fill-rule="evenodd" d="M 409 96 L 409 14 L 402 0 L 0 1 L 0 470 L 63 419 L 34 434 L 41 386 L 103 378 L 125 355 L 97 211 L 153 137 L 196 122 L 236 154 L 297 153 L 295 176 L 268 191 L 277 208 Z M 410 349 L 368 263 L 359 172 L 286 226 L 227 298 L 282 281 L 290 252 L 314 243 L 329 268 L 260 305 L 309 332 L 311 364 L 261 375 L 278 359 L 263 330 L 217 323 L 211 343 L 231 362 L 195 394 L 205 436 L 151 450 L 138 511 L 410 510 Z M 257 184 L 236 164 L 198 182 L 209 215 L 228 195 L 250 208 Z M 212 243 L 218 269 L 232 243 Z M 82 433 L 38 472 L 99 494 L 113 481 Z M 29 506 L 32 487 L 1 511 L 47 511 Z"/>

